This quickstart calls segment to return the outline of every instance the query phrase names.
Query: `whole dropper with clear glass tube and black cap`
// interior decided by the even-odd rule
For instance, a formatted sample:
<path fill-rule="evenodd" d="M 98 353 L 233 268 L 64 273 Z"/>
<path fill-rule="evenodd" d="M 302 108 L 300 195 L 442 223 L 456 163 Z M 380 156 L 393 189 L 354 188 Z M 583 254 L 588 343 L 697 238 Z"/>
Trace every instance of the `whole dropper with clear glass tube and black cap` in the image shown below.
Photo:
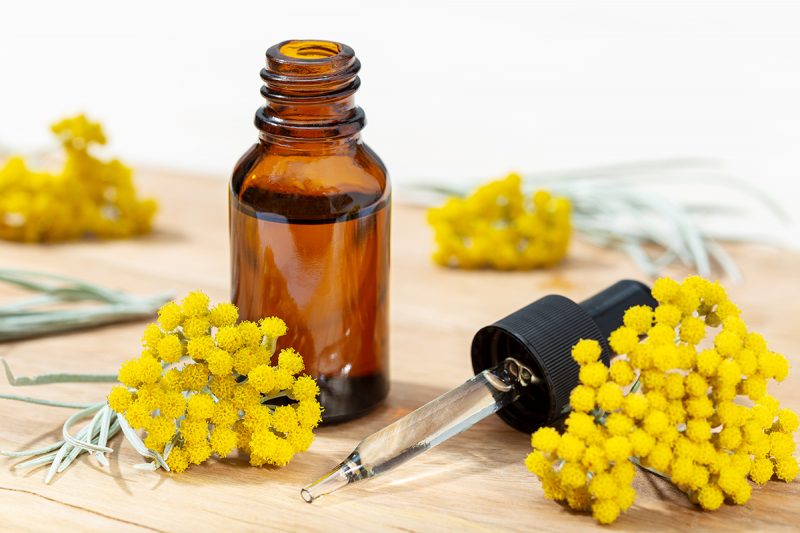
<path fill-rule="evenodd" d="M 578 383 L 572 346 L 580 339 L 597 340 L 608 365 L 606 339 L 634 305 L 652 307 L 655 301 L 647 286 L 623 280 L 580 304 L 545 296 L 481 328 L 472 341 L 473 378 L 362 440 L 300 495 L 311 503 L 384 474 L 493 413 L 526 433 L 556 423 L 568 412 L 569 394 Z"/>

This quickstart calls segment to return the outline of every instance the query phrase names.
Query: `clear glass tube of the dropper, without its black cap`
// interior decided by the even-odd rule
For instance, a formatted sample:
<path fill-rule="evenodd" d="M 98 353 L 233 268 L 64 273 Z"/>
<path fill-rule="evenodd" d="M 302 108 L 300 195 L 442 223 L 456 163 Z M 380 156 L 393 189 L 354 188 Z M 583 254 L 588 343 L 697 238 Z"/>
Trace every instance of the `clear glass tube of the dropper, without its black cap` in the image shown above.
<path fill-rule="evenodd" d="M 347 459 L 303 488 L 300 495 L 311 503 L 346 485 L 393 470 L 514 402 L 520 388 L 535 381 L 529 368 L 508 358 L 365 438 Z"/>

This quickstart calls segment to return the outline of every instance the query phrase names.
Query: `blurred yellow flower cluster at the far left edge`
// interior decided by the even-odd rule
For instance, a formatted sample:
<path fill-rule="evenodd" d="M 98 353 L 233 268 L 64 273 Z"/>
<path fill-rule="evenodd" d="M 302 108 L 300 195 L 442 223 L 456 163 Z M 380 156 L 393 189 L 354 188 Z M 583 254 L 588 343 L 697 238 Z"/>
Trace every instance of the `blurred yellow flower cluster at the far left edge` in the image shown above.
<path fill-rule="evenodd" d="M 149 232 L 156 202 L 137 197 L 131 169 L 89 153 L 106 142 L 100 124 L 79 115 L 51 129 L 65 153 L 61 172 L 31 170 L 19 156 L 0 166 L 0 238 L 56 242 Z"/>

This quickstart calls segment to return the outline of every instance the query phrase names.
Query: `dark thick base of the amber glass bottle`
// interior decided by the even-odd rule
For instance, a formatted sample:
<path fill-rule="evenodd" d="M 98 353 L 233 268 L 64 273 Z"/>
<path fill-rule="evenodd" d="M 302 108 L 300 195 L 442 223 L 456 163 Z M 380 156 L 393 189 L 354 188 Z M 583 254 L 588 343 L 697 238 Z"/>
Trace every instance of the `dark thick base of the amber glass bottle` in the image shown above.
<path fill-rule="evenodd" d="M 317 378 L 322 411 L 322 424 L 338 424 L 362 417 L 372 411 L 389 394 L 385 374 Z"/>

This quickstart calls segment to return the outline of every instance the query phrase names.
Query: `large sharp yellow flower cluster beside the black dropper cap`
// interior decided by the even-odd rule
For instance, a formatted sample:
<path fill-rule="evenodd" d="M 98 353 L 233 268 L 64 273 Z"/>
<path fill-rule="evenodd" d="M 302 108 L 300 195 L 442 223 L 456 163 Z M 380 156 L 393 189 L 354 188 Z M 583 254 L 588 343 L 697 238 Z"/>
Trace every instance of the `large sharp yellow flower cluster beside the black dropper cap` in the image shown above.
<path fill-rule="evenodd" d="M 762 485 L 798 474 L 798 417 L 766 392 L 786 377 L 786 359 L 747 329 L 717 282 L 661 278 L 652 294 L 658 306 L 628 309 L 609 337 L 619 355 L 610 368 L 596 341 L 573 347 L 580 384 L 566 431 L 539 429 L 526 461 L 548 498 L 591 510 L 602 524 L 636 497 L 631 461 L 709 511 L 726 499 L 744 504 L 748 477 Z"/>

